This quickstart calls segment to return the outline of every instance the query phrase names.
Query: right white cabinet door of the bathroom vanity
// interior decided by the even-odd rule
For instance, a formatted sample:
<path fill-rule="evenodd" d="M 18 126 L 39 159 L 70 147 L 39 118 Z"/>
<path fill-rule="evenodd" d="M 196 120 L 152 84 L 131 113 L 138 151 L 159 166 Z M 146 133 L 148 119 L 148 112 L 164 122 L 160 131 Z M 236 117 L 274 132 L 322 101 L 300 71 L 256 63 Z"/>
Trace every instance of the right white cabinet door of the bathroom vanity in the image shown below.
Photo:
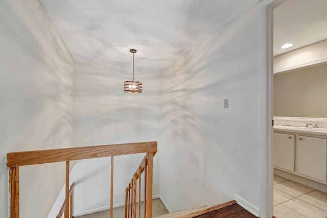
<path fill-rule="evenodd" d="M 297 172 L 326 181 L 327 140 L 307 136 L 297 139 Z"/>

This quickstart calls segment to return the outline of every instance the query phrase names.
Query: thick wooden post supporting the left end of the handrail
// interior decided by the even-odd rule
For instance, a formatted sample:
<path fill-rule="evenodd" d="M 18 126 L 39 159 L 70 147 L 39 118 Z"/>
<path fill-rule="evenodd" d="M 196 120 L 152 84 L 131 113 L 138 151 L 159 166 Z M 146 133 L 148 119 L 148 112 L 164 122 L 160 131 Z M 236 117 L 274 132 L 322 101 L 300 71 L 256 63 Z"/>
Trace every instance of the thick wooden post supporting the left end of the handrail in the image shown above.
<path fill-rule="evenodd" d="M 19 167 L 9 168 L 10 218 L 19 218 Z"/>

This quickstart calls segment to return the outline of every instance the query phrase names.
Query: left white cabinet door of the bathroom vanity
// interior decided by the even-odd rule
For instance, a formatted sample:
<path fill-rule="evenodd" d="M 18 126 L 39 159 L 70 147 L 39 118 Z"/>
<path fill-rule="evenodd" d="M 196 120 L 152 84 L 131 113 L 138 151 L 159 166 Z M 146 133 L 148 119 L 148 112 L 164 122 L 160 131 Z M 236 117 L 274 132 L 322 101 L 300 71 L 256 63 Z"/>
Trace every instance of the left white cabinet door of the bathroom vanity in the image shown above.
<path fill-rule="evenodd" d="M 273 146 L 274 166 L 294 171 L 295 136 L 274 133 Z"/>

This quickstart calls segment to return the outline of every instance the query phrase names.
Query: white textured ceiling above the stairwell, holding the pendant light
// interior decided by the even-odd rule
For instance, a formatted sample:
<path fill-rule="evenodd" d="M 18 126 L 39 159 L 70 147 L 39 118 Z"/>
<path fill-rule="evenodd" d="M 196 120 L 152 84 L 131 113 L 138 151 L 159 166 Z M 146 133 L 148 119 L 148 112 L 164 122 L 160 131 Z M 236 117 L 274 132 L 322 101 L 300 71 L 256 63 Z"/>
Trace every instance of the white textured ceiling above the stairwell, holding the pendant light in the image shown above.
<path fill-rule="evenodd" d="M 261 0 L 40 0 L 74 59 L 167 67 Z"/>

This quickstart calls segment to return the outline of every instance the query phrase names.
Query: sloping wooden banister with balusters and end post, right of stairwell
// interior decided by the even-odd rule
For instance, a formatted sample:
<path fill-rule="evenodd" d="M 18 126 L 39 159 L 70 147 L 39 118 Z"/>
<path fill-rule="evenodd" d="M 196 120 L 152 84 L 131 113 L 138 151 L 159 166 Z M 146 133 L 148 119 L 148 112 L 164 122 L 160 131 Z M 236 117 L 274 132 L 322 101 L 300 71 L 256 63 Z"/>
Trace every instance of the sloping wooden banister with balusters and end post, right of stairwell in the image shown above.
<path fill-rule="evenodd" d="M 136 198 L 138 179 L 138 218 L 141 218 L 141 175 L 144 172 L 144 218 L 152 218 L 152 180 L 153 156 L 155 152 L 148 152 L 136 169 L 125 194 L 125 218 L 136 218 Z"/>

